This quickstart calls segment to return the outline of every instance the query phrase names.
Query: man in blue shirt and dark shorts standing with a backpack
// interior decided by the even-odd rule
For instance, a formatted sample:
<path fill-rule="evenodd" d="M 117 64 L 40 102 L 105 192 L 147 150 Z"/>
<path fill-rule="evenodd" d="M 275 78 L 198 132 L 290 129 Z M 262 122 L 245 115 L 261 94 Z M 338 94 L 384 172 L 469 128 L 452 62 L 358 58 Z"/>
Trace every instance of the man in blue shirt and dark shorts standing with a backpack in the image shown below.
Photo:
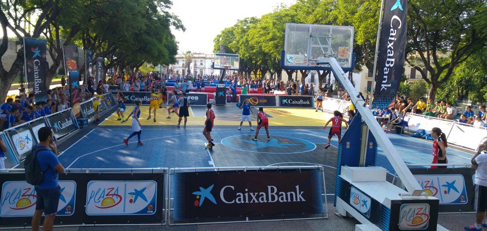
<path fill-rule="evenodd" d="M 64 167 L 58 160 L 58 147 L 54 144 L 52 130 L 49 127 L 42 127 L 38 131 L 39 144 L 47 147 L 49 150 L 39 150 L 36 158 L 41 170 L 46 171 L 44 180 L 35 186 L 37 201 L 35 212 L 32 217 L 32 230 L 39 230 L 41 217 L 44 213 L 44 224 L 42 230 L 50 231 L 54 225 L 54 217 L 58 213 L 59 198 L 61 196 L 61 187 L 58 183 L 58 173 L 64 173 Z M 47 170 L 46 170 L 47 169 Z"/>

